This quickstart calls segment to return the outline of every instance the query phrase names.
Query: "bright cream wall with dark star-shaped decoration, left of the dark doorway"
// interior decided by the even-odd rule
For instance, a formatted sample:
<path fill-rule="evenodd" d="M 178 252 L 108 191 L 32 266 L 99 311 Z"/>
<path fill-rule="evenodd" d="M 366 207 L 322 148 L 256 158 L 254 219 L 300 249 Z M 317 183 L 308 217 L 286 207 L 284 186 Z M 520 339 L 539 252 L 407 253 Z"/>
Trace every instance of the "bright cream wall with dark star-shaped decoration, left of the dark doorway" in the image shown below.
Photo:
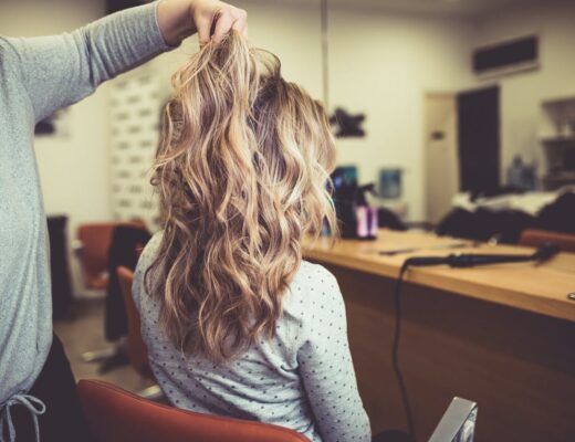
<path fill-rule="evenodd" d="M 473 38 L 463 20 L 330 11 L 331 104 L 367 117 L 365 138 L 338 140 L 339 161 L 357 165 L 363 182 L 377 181 L 381 167 L 402 168 L 411 220 L 424 219 L 424 94 L 473 84 Z"/>

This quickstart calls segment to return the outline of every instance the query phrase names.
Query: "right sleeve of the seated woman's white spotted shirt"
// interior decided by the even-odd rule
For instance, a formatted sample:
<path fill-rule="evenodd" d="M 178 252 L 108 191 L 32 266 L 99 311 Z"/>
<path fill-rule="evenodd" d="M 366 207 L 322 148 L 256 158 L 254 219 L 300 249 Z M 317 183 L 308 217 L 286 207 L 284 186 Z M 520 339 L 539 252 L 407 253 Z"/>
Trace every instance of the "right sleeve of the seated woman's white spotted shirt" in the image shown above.
<path fill-rule="evenodd" d="M 300 373 L 325 442 L 372 440 L 347 343 L 345 305 L 335 277 L 321 267 L 316 301 L 302 319 Z"/>

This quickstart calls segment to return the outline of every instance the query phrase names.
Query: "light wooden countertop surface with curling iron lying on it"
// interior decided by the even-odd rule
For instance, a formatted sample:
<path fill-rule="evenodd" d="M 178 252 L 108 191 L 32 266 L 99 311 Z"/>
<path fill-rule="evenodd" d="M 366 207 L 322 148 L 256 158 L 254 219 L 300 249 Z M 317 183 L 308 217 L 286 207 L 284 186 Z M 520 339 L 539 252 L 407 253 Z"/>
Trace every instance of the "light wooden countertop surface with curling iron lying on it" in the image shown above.
<path fill-rule="evenodd" d="M 510 245 L 473 245 L 457 250 L 432 250 L 440 244 L 460 240 L 424 233 L 381 230 L 375 242 L 339 241 L 331 248 L 328 240 L 305 243 L 305 255 L 323 263 L 355 269 L 380 276 L 396 277 L 402 262 L 412 255 L 449 253 L 530 253 L 529 248 Z M 417 253 L 381 256 L 379 251 L 418 248 Z M 567 295 L 575 292 L 575 254 L 561 253 L 550 262 L 489 265 L 474 269 L 420 267 L 407 275 L 409 282 L 454 294 L 489 301 L 529 312 L 575 322 L 575 302 Z"/>

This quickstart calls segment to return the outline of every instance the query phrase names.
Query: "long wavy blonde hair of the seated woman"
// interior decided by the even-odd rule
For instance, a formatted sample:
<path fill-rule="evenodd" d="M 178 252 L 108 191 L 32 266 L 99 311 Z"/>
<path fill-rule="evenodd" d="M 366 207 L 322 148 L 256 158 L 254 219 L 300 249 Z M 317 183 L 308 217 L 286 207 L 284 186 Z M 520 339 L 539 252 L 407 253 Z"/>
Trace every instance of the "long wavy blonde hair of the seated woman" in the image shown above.
<path fill-rule="evenodd" d="M 172 85 L 151 180 L 164 234 L 146 284 L 177 348 L 221 362 L 273 337 L 302 238 L 324 222 L 336 232 L 334 139 L 322 105 L 237 33 Z"/>

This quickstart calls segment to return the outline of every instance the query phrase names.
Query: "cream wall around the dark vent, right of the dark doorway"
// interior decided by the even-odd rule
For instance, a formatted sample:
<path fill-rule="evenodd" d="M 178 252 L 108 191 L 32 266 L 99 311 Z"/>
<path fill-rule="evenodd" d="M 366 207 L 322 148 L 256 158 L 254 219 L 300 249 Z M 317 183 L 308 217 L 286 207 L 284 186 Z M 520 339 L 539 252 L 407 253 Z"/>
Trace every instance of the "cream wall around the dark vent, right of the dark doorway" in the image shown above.
<path fill-rule="evenodd" d="M 503 179 L 516 154 L 527 161 L 536 159 L 539 173 L 544 173 L 543 148 L 539 143 L 540 104 L 544 98 L 575 95 L 574 23 L 575 3 L 553 0 L 502 11 L 479 23 L 478 44 L 540 35 L 541 69 L 498 78 Z"/>

